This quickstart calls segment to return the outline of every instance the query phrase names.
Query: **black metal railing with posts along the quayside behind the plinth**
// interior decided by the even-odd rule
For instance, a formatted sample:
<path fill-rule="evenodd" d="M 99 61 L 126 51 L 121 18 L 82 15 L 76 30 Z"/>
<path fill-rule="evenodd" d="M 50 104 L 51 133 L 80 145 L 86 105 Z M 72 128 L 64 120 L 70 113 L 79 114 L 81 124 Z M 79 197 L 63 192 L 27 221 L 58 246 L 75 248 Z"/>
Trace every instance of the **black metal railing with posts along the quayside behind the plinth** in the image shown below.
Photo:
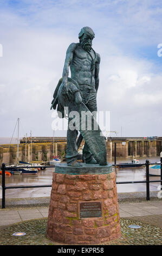
<path fill-rule="evenodd" d="M 150 180 L 149 177 L 149 166 L 150 164 L 161 164 L 160 170 L 160 180 Z M 119 166 L 119 164 L 112 164 L 113 166 Z M 140 181 L 120 181 L 120 182 L 116 182 L 116 184 L 134 184 L 134 183 L 146 183 L 146 200 L 150 200 L 150 183 L 151 182 L 160 182 L 161 184 L 161 190 L 162 190 L 162 157 L 160 157 L 160 163 L 150 163 L 148 160 L 146 160 L 145 163 L 143 163 L 142 165 L 146 166 L 146 180 L 140 180 Z M 129 164 L 129 166 L 131 166 L 131 164 Z M 134 164 L 132 164 L 132 166 L 134 166 Z M 141 166 L 140 164 L 135 164 L 135 166 Z M 44 168 L 54 168 L 54 166 L 43 166 Z M 7 170 L 11 170 L 11 169 L 22 169 L 22 168 L 31 168 L 31 166 L 29 167 L 6 167 L 5 163 L 2 163 L 2 209 L 5 208 L 5 190 L 7 189 L 11 189 L 11 188 L 33 188 L 33 187 L 51 187 L 52 185 L 33 185 L 33 186 L 5 186 L 5 171 Z M 37 166 L 36 168 L 41 168 L 41 166 Z"/>

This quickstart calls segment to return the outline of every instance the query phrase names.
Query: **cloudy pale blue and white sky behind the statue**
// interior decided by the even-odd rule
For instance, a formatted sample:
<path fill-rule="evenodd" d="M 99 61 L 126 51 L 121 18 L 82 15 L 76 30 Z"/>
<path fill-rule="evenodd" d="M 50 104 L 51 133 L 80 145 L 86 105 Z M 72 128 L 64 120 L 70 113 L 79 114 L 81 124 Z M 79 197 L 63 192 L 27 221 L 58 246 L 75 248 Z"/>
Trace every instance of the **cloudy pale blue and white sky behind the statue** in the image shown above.
<path fill-rule="evenodd" d="M 111 130 L 162 136 L 161 24 L 160 0 L 1 0 L 0 137 L 12 135 L 18 117 L 21 136 L 53 136 L 50 103 L 84 26 L 95 32 L 98 110 L 111 111 Z"/>

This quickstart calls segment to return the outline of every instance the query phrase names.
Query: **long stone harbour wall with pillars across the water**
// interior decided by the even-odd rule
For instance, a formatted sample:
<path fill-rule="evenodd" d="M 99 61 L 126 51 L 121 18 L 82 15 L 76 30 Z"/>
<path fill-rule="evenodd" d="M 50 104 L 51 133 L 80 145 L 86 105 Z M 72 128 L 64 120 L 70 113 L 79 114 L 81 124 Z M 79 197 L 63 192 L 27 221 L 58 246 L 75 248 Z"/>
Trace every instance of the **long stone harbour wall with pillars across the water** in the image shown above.
<path fill-rule="evenodd" d="M 51 138 L 52 141 L 53 138 Z M 162 151 L 162 137 L 146 139 L 144 137 L 112 137 L 106 140 L 107 160 L 111 161 L 114 157 L 116 143 L 116 157 L 155 157 L 160 156 Z M 84 142 L 81 144 L 83 147 Z M 67 143 L 56 139 L 55 142 L 38 141 L 19 144 L 18 158 L 20 161 L 49 161 L 53 155 L 61 159 L 66 155 Z M 0 145 L 0 164 L 17 163 L 17 144 Z"/>

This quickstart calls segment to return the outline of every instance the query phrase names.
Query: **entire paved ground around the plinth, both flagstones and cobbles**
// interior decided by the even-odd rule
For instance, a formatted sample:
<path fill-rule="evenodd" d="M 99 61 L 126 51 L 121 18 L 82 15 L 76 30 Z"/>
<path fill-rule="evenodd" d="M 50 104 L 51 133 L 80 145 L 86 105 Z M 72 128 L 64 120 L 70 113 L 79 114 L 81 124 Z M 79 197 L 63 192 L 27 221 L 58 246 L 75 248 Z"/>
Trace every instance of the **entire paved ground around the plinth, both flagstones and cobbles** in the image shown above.
<path fill-rule="evenodd" d="M 103 245 L 162 244 L 162 199 L 152 197 L 146 201 L 143 194 L 135 195 L 118 196 L 121 237 Z M 0 244 L 61 245 L 46 237 L 49 200 L 49 197 L 7 199 L 6 209 L 0 209 Z M 141 228 L 131 229 L 129 225 L 140 225 Z M 11 237 L 15 231 L 22 230 L 25 236 Z"/>

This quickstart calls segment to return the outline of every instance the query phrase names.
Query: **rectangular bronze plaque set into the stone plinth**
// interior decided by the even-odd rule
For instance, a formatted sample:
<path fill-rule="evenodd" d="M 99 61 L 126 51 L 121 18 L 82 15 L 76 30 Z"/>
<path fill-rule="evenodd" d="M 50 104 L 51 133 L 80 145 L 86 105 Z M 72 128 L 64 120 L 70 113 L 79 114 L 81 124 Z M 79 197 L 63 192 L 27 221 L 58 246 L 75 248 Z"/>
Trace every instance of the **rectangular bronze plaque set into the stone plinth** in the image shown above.
<path fill-rule="evenodd" d="M 101 202 L 80 202 L 80 218 L 102 217 Z"/>

